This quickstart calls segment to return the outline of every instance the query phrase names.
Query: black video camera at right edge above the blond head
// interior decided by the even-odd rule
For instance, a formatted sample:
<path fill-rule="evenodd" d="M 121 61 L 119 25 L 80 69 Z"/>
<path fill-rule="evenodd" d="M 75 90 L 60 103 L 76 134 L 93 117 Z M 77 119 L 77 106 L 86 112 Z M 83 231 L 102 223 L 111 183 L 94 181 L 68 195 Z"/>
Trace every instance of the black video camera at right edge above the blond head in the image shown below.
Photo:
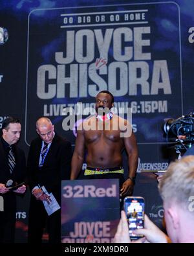
<path fill-rule="evenodd" d="M 194 143 L 194 112 L 178 119 L 166 119 L 163 129 L 168 142 L 173 141 L 169 137 L 174 137 L 174 142 L 177 142 L 176 150 L 188 150 Z M 184 139 L 178 138 L 180 135 L 184 135 Z"/>

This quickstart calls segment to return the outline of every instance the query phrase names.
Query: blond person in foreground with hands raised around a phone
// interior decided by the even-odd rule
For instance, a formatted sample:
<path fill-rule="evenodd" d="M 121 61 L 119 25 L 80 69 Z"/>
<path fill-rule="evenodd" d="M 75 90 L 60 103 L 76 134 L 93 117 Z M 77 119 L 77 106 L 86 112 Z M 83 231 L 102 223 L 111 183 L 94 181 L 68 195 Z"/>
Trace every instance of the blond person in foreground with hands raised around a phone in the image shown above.
<path fill-rule="evenodd" d="M 194 156 L 182 157 L 171 163 L 158 184 L 164 205 L 167 235 L 145 215 L 144 229 L 135 234 L 145 237 L 136 242 L 194 242 Z M 114 242 L 131 242 L 127 218 L 122 218 Z"/>

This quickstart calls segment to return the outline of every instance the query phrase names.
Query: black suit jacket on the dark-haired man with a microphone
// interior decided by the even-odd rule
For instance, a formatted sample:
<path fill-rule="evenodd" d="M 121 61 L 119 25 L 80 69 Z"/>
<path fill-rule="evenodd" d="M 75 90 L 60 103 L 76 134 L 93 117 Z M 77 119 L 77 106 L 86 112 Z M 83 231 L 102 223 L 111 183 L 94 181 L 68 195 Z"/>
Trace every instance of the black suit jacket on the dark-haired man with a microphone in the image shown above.
<path fill-rule="evenodd" d="M 10 173 L 10 169 L 8 166 L 8 156 L 6 156 L 6 151 L 3 146 L 3 143 L 0 139 L 0 183 L 6 184 L 8 180 L 13 180 L 14 183 L 21 183 L 25 181 L 26 176 L 26 161 L 25 154 L 23 150 L 21 150 L 17 145 L 12 145 L 14 156 L 16 159 L 16 166 L 12 172 Z M 5 200 L 5 209 L 6 205 L 8 207 L 12 207 L 15 210 L 16 207 L 16 192 L 7 192 L 5 194 L 0 194 L 3 196 Z M 12 200 L 12 204 L 10 204 L 10 200 Z"/>

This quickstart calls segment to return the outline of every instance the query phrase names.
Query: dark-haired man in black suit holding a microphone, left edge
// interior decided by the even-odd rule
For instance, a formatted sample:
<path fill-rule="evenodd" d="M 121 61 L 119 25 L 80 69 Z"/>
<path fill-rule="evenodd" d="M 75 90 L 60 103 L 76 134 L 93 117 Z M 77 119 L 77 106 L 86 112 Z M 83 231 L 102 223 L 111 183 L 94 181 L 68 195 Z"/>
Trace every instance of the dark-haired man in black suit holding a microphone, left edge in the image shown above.
<path fill-rule="evenodd" d="M 23 194 L 26 191 L 25 185 L 21 185 L 14 191 L 8 189 L 9 183 L 14 186 L 25 179 L 25 154 L 16 146 L 20 134 L 19 119 L 8 117 L 3 121 L 0 139 L 0 196 L 1 199 L 3 198 L 1 200 L 3 211 L 0 211 L 0 243 L 14 242 L 16 194 Z"/>

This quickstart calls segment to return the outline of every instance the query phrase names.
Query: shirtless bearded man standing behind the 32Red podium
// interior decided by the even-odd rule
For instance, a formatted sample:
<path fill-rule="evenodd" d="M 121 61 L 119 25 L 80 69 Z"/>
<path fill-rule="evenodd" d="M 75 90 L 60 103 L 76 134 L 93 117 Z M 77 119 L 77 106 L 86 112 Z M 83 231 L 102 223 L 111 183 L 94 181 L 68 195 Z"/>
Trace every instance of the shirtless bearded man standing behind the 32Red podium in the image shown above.
<path fill-rule="evenodd" d="M 71 163 L 71 180 L 78 178 L 87 150 L 84 179 L 120 180 L 120 194 L 130 196 L 135 185 L 138 148 L 129 121 L 112 113 L 114 97 L 109 91 L 96 96 L 96 115 L 78 127 L 76 146 Z M 130 130 L 130 132 L 129 132 Z M 128 156 L 128 178 L 124 180 L 122 151 Z"/>

